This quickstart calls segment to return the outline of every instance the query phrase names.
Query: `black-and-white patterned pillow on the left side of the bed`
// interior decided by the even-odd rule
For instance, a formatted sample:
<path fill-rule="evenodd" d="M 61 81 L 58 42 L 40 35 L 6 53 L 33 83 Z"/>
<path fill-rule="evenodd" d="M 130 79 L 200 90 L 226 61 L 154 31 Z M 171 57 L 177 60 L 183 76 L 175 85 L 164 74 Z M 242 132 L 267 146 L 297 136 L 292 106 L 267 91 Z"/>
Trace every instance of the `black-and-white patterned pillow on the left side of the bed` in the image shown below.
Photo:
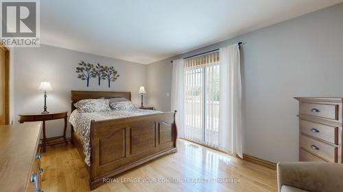
<path fill-rule="evenodd" d="M 74 104 L 80 113 L 93 113 L 110 111 L 110 100 L 108 99 L 83 99 Z"/>

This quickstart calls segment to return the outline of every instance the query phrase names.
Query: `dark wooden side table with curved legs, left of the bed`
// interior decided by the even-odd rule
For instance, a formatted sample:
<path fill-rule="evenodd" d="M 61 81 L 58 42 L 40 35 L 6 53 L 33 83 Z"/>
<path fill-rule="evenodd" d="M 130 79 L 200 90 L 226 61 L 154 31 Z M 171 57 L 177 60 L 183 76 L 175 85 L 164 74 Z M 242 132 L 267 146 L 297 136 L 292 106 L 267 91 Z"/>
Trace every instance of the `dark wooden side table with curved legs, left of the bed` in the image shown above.
<path fill-rule="evenodd" d="M 27 114 L 19 114 L 19 123 L 23 122 L 43 122 L 43 152 L 45 152 L 45 148 L 47 143 L 51 143 L 54 145 L 59 143 L 60 139 L 63 139 L 66 144 L 68 144 L 66 138 L 67 132 L 67 118 L 68 118 L 68 111 L 62 112 L 54 112 L 54 113 L 27 113 Z M 62 136 L 58 137 L 45 137 L 45 121 L 49 120 L 59 120 L 64 119 L 64 131 Z"/>

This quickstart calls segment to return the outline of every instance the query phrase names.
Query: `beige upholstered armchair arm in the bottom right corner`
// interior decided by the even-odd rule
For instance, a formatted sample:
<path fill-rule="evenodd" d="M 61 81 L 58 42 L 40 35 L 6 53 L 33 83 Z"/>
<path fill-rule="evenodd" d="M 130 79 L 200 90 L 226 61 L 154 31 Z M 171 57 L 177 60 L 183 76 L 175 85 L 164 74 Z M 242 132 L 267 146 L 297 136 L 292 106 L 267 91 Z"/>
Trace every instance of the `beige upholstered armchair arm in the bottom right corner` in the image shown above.
<path fill-rule="evenodd" d="M 311 192 L 343 191 L 343 164 L 278 163 L 277 182 L 279 192 L 283 185 Z"/>

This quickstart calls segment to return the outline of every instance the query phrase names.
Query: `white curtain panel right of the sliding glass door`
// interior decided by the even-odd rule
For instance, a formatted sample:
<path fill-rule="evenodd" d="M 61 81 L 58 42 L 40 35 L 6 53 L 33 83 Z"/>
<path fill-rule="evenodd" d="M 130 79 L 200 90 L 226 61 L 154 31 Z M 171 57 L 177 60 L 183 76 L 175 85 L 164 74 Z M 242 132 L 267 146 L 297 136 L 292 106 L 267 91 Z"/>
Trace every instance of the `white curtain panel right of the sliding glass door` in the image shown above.
<path fill-rule="evenodd" d="M 243 158 L 239 45 L 220 49 L 220 148 Z"/>

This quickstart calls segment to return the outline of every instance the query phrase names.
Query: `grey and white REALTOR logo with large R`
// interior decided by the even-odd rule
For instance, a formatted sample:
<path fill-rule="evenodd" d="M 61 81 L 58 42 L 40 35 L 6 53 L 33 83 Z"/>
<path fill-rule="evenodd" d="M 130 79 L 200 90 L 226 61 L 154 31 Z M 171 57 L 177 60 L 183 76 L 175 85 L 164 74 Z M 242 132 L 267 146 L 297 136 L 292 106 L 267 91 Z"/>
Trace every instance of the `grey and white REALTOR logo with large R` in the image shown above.
<path fill-rule="evenodd" d="M 1 1 L 1 42 L 11 47 L 39 46 L 39 4 Z"/>

